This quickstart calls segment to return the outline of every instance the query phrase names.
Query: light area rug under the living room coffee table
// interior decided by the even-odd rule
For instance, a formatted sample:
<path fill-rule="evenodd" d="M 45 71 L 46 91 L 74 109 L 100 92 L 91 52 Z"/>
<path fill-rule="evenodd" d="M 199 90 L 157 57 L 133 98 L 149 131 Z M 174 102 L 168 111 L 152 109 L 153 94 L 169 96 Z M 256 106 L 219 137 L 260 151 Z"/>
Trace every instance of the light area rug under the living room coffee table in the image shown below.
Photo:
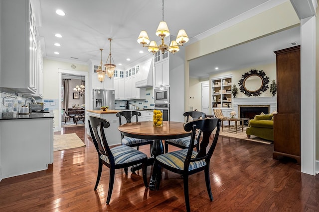
<path fill-rule="evenodd" d="M 246 140 L 246 141 L 266 143 L 266 144 L 273 143 L 273 141 L 261 139 L 261 138 L 256 137 L 256 136 L 250 136 L 250 139 L 247 139 L 246 129 L 247 129 L 247 126 L 244 127 L 244 132 L 242 132 L 241 128 L 240 128 L 237 130 L 237 133 L 236 133 L 235 127 L 231 126 L 230 128 L 228 128 L 228 126 L 224 126 L 223 130 L 220 128 L 219 135 L 220 136 L 227 136 L 227 137 L 231 137 L 231 138 L 236 138 L 236 139 L 242 139 L 242 140 Z"/>

